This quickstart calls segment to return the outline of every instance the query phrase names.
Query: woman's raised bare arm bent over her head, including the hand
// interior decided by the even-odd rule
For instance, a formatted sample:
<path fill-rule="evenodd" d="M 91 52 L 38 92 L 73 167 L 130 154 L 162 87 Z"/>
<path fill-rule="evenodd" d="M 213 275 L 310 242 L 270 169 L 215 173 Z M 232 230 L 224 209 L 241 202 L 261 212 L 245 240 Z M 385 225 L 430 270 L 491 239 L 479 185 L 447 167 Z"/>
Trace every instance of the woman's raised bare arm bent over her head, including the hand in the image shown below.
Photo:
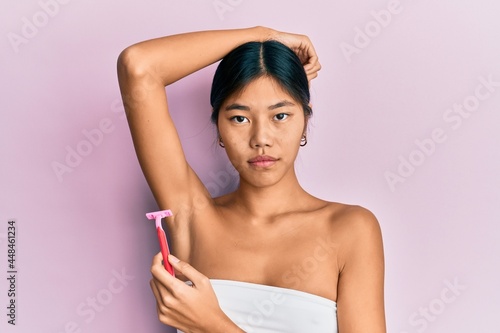
<path fill-rule="evenodd" d="M 211 200 L 188 165 L 169 115 L 165 86 L 250 41 L 278 40 L 302 60 L 309 80 L 321 68 L 307 36 L 264 27 L 201 31 L 148 40 L 118 58 L 118 80 L 139 163 L 160 209 L 192 207 Z"/>

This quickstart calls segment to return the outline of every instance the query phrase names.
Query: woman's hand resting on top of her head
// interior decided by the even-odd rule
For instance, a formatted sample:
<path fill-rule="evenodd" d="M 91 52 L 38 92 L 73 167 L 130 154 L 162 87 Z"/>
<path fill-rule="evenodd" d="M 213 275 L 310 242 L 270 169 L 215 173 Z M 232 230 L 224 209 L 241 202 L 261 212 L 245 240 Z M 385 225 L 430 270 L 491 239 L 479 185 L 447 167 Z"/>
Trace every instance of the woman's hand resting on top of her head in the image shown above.
<path fill-rule="evenodd" d="M 318 76 L 321 64 L 309 37 L 273 30 L 270 39 L 285 44 L 295 52 L 304 66 L 309 82 Z"/>

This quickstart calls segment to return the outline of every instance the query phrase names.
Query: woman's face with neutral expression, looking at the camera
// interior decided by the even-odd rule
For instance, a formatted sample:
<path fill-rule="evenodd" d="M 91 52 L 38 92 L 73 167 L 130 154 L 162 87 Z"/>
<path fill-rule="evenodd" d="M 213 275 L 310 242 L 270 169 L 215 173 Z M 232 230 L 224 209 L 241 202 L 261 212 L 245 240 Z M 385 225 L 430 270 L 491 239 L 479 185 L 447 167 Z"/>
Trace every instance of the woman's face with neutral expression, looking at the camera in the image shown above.
<path fill-rule="evenodd" d="M 218 119 L 220 136 L 241 182 L 257 187 L 295 177 L 305 124 L 301 104 L 269 77 L 258 78 L 230 96 Z"/>

